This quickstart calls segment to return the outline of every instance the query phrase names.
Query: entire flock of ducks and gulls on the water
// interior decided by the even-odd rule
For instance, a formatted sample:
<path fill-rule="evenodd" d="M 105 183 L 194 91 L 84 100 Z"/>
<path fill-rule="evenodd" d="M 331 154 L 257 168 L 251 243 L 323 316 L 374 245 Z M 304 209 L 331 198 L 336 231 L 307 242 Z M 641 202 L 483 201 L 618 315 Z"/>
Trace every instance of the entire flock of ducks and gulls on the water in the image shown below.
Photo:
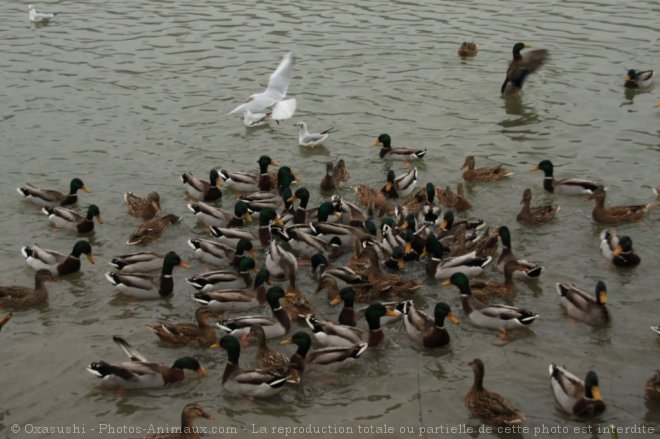
<path fill-rule="evenodd" d="M 31 5 L 29 14 L 35 22 L 53 16 L 39 14 Z M 527 76 L 547 59 L 545 50 L 523 54 L 526 47 L 523 43 L 513 46 L 502 93 L 520 93 Z M 477 50 L 476 44 L 463 43 L 459 55 L 474 56 Z M 252 95 L 230 114 L 243 116 L 248 126 L 291 117 L 297 102 L 285 97 L 292 65 L 292 55 L 285 55 L 267 89 Z M 624 85 L 647 87 L 652 76 L 652 71 L 631 70 Z M 259 113 L 264 109 L 270 111 Z M 300 129 L 300 145 L 319 145 L 331 132 L 329 129 L 309 133 L 304 122 L 296 125 Z M 388 171 L 382 188 L 355 185 L 356 203 L 334 193 L 349 179 L 342 160 L 328 163 L 319 190 L 331 195 L 330 201 L 315 207 L 308 206 L 309 188 L 292 187 L 298 183 L 295 173 L 266 155 L 257 161 L 259 173 L 212 169 L 208 180 L 183 174 L 181 182 L 193 200 L 187 208 L 211 238 L 193 237 L 187 243 L 195 257 L 213 269 L 186 280 L 195 290 L 192 299 L 200 304 L 195 323 L 159 323 L 149 325 L 148 330 L 174 346 L 223 349 L 227 356 L 221 379 L 224 388 L 263 398 L 299 385 L 308 369 L 361 361 L 365 353 L 387 343 L 385 325 L 403 324 L 405 333 L 423 349 L 449 345 L 451 337 L 445 321 L 456 324 L 457 316 L 445 302 L 435 304 L 432 315 L 416 308 L 415 292 L 422 283 L 405 276 L 406 264 L 424 264 L 430 278 L 455 286 L 463 313 L 473 325 L 497 331 L 503 340 L 508 339 L 511 330 L 529 328 L 539 316 L 513 305 L 514 278 L 538 278 L 543 267 L 513 254 L 508 227 L 502 225 L 490 232 L 481 219 L 455 218 L 455 213 L 471 208 L 463 183 L 459 183 L 456 192 L 433 183 L 417 187 L 418 171 L 410 164 L 424 159 L 426 149 L 394 147 L 388 134 L 378 136 L 373 145 L 380 147 L 380 158 L 404 161 L 409 169 L 400 175 Z M 276 173 L 270 171 L 271 166 L 279 166 Z M 513 175 L 502 166 L 477 168 L 474 156 L 466 157 L 461 170 L 463 181 L 468 184 L 484 184 Z M 639 221 L 654 206 L 606 206 L 602 184 L 576 178 L 555 180 L 549 160 L 541 161 L 534 170 L 544 173 L 543 188 L 548 193 L 593 199 L 592 217 L 599 224 Z M 215 206 L 223 198 L 222 186 L 240 194 L 232 211 Z M 68 193 L 30 184 L 18 188 L 25 200 L 43 208 L 56 228 L 88 234 L 95 229 L 95 221 L 102 224 L 103 219 L 94 204 L 84 214 L 70 209 L 77 204 L 79 191 L 89 192 L 80 178 L 71 180 Z M 531 190 L 525 189 L 518 221 L 535 225 L 555 219 L 557 205 L 532 206 L 531 199 Z M 167 227 L 181 220 L 173 214 L 162 214 L 156 192 L 144 198 L 127 192 L 124 200 L 128 213 L 144 221 L 130 235 L 127 245 L 153 242 Z M 258 216 L 256 230 L 248 226 L 253 215 Z M 619 236 L 614 229 L 603 231 L 600 245 L 603 255 L 614 265 L 632 268 L 641 261 L 633 250 L 632 239 Z M 0 308 L 20 310 L 43 305 L 48 299 L 47 282 L 79 271 L 83 254 L 91 264 L 95 262 L 86 240 L 76 241 L 69 253 L 34 244 L 23 247 L 21 254 L 36 270 L 35 286 L 0 287 Z M 350 259 L 339 265 L 337 261 L 343 255 L 350 255 Z M 115 271 L 105 274 L 107 280 L 120 293 L 138 299 L 169 297 L 175 290 L 173 270 L 189 267 L 174 251 L 128 253 L 117 256 L 111 264 Z M 303 266 L 310 266 L 317 278 L 316 293 L 325 292 L 321 297 L 326 297 L 331 305 L 342 305 L 335 319 L 317 316 L 319 296 L 299 289 L 297 276 Z M 475 278 L 489 266 L 497 266 L 503 282 Z M 158 270 L 160 275 L 150 274 Z M 285 283 L 272 285 L 272 281 Z M 561 282 L 556 284 L 556 290 L 571 318 L 594 326 L 610 323 L 612 316 L 606 307 L 606 286 L 602 281 L 594 293 Z M 356 308 L 355 302 L 364 302 L 366 306 Z M 269 309 L 265 314 L 248 313 L 264 306 Z M 0 329 L 12 315 L 0 318 Z M 296 325 L 306 330 L 294 328 Z M 220 337 L 218 328 L 223 332 Z M 660 334 L 658 327 L 653 329 Z M 273 349 L 268 343 L 275 338 L 281 339 L 282 344 L 294 344 L 296 351 L 286 356 Z M 245 369 L 240 365 L 241 352 L 250 340 L 256 341 L 257 368 Z M 162 387 L 182 381 L 185 369 L 207 375 L 194 357 L 184 356 L 167 366 L 149 361 L 120 336 L 113 337 L 113 341 L 128 361 L 99 360 L 87 368 L 105 385 L 122 389 Z M 484 388 L 483 361 L 475 358 L 469 365 L 474 372 L 473 385 L 465 396 L 470 413 L 494 425 L 523 422 L 525 417 L 520 410 Z M 577 417 L 598 416 L 606 408 L 598 388 L 598 375 L 590 370 L 583 376 L 581 379 L 555 364 L 549 366 L 549 379 L 559 407 Z M 660 372 L 648 380 L 646 398 L 660 399 Z M 198 404 L 186 405 L 182 428 L 192 427 L 197 417 L 211 419 Z"/>

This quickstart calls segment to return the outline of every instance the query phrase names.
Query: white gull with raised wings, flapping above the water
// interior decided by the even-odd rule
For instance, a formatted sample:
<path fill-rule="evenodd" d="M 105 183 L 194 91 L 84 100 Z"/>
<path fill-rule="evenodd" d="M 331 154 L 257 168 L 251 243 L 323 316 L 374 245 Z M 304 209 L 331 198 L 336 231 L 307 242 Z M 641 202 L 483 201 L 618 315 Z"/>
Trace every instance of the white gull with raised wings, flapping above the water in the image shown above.
<path fill-rule="evenodd" d="M 291 75 L 293 73 L 293 53 L 284 55 L 280 65 L 270 75 L 266 90 L 250 96 L 250 100 L 239 105 L 229 114 L 245 114 L 246 112 L 257 113 L 265 108 L 271 109 L 272 120 L 289 119 L 296 111 L 296 98 L 284 99 L 289 88 Z"/>

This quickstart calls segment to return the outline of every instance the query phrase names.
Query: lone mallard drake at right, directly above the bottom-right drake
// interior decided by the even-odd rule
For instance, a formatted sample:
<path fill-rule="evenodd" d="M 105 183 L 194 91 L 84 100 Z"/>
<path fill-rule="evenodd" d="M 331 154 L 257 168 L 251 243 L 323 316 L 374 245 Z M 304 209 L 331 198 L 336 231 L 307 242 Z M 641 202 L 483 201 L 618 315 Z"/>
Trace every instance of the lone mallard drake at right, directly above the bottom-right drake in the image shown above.
<path fill-rule="evenodd" d="M 595 294 L 589 294 L 575 285 L 561 282 L 555 284 L 555 290 L 559 294 L 566 313 L 574 319 L 594 326 L 605 326 L 612 320 L 610 312 L 605 306 L 607 305 L 607 288 L 602 280 L 596 283 Z"/>

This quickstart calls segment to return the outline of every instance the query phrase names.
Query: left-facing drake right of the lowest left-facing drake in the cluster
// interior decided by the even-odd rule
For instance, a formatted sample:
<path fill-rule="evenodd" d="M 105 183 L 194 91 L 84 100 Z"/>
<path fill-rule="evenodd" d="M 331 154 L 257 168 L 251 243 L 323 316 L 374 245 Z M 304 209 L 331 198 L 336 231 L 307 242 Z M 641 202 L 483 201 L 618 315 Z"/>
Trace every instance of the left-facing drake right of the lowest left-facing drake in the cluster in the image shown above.
<path fill-rule="evenodd" d="M 280 342 L 281 344 L 296 344 L 298 349 L 289 359 L 291 367 L 299 373 L 303 373 L 307 365 L 311 364 L 334 364 L 345 360 L 358 359 L 367 350 L 367 343 L 358 343 L 348 347 L 326 347 L 309 351 L 312 347 L 312 338 L 306 332 L 295 332 L 291 338 Z"/>

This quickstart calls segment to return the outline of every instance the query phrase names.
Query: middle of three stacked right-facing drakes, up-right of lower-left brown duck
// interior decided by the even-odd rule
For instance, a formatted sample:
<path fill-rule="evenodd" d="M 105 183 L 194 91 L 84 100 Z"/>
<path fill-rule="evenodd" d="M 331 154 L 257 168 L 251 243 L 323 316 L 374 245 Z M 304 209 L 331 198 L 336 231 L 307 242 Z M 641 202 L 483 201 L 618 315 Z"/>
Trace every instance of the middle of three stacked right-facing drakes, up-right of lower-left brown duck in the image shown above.
<path fill-rule="evenodd" d="M 197 291 L 192 299 L 213 311 L 248 311 L 266 303 L 266 284 L 270 284 L 270 273 L 262 268 L 252 288 Z"/>

